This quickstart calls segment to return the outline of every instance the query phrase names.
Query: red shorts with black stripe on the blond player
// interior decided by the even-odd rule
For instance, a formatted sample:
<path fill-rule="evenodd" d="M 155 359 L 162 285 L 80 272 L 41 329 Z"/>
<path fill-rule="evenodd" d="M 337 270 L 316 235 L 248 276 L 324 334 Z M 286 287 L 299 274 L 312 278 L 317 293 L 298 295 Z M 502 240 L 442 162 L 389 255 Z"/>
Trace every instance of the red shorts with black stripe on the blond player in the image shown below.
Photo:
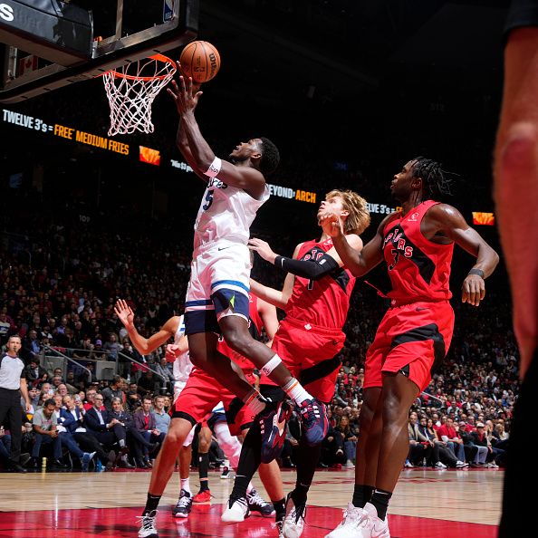
<path fill-rule="evenodd" d="M 341 361 L 336 357 L 346 335 L 340 329 L 325 329 L 286 318 L 274 335 L 273 351 L 314 398 L 328 403 L 334 396 Z M 275 385 L 264 373 L 260 384 Z"/>

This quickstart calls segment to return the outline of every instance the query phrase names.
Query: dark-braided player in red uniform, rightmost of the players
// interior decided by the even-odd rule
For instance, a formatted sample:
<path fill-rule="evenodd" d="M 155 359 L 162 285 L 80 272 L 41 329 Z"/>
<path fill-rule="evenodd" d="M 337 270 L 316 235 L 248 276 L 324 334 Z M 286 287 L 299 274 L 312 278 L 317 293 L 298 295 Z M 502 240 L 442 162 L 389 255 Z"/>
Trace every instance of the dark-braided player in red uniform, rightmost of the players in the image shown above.
<path fill-rule="evenodd" d="M 408 411 L 452 339 L 448 279 L 454 244 L 477 258 L 462 286 L 463 303 L 478 306 L 484 279 L 498 263 L 495 251 L 454 207 L 430 199 L 447 187 L 437 162 L 410 160 L 390 186 L 402 209 L 383 219 L 360 255 L 338 215 L 321 218 L 352 274 L 362 276 L 384 260 L 392 284 L 389 311 L 366 356 L 353 500 L 327 538 L 389 538 L 387 507 L 408 455 Z"/>

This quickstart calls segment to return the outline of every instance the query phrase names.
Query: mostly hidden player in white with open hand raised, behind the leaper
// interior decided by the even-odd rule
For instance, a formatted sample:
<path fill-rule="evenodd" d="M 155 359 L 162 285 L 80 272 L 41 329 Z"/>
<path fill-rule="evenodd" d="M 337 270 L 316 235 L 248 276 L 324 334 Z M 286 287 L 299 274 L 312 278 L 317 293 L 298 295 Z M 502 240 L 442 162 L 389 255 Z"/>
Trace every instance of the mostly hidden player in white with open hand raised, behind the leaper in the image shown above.
<path fill-rule="evenodd" d="M 192 362 L 188 356 L 188 342 L 185 336 L 184 316 L 172 316 L 160 329 L 160 331 L 144 338 L 134 326 L 134 312 L 130 306 L 123 300 L 119 299 L 114 306 L 114 312 L 120 322 L 123 323 L 130 337 L 132 345 L 141 355 L 148 355 L 157 350 L 161 345 L 166 343 L 170 338 L 174 338 L 173 344 L 168 344 L 166 358 L 169 362 L 173 361 L 174 375 L 174 401 L 178 399 L 179 393 L 185 388 L 188 375 L 192 370 Z M 181 489 L 190 494 L 190 485 L 188 473 L 190 470 L 190 461 L 192 459 L 192 440 L 194 437 L 194 427 L 191 428 L 187 438 L 179 450 L 179 481 Z"/>

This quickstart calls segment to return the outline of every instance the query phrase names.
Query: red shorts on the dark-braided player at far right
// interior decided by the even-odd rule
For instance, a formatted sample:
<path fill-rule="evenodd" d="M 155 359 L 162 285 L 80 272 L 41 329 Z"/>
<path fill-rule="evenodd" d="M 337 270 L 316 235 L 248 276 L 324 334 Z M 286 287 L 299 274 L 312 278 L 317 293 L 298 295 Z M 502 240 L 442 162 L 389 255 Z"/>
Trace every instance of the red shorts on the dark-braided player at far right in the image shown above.
<path fill-rule="evenodd" d="M 382 372 L 402 372 L 422 391 L 447 356 L 454 311 L 447 301 L 389 308 L 366 353 L 363 388 L 381 387 Z"/>

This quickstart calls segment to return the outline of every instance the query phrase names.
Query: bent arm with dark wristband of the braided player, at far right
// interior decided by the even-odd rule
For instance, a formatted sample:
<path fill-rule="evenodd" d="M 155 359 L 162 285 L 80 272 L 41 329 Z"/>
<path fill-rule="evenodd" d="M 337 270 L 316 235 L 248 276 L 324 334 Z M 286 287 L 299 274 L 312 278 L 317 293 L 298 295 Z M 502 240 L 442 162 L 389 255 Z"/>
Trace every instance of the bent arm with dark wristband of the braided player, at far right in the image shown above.
<path fill-rule="evenodd" d="M 437 204 L 428 209 L 428 226 L 431 224 L 470 255 L 476 256 L 476 264 L 462 284 L 462 303 L 478 306 L 485 297 L 485 278 L 492 274 L 499 263 L 499 255 L 485 243 L 481 235 L 466 223 L 462 214 L 447 204 Z"/>

